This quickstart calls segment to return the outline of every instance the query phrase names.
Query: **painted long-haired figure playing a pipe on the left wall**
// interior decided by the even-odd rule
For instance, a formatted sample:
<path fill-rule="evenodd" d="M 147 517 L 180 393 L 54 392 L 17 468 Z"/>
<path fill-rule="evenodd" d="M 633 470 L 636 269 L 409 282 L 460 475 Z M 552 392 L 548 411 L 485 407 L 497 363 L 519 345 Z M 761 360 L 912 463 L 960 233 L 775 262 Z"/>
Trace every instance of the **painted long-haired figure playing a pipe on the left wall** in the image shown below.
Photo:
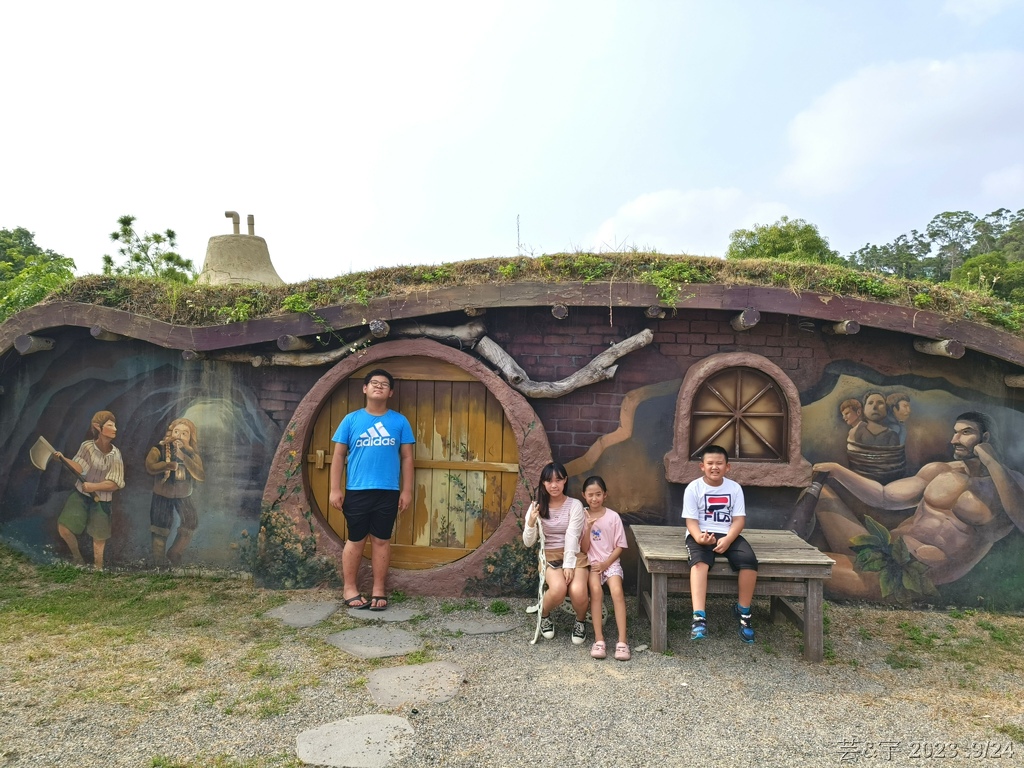
<path fill-rule="evenodd" d="M 150 531 L 153 535 L 153 559 L 158 567 L 178 565 L 181 554 L 191 543 L 199 526 L 199 513 L 193 500 L 197 482 L 206 479 L 199 455 L 196 425 L 188 419 L 175 419 L 159 443 L 145 457 L 145 471 L 154 475 L 153 504 L 150 506 Z M 168 549 L 167 540 L 178 513 L 178 530 Z"/>

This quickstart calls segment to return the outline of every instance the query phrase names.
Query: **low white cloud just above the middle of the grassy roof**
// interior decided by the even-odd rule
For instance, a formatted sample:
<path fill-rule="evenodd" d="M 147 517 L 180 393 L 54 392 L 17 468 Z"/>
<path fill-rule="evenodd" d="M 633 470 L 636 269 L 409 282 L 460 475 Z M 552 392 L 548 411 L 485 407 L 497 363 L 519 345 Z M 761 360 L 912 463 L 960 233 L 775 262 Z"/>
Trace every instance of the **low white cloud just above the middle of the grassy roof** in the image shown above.
<path fill-rule="evenodd" d="M 663 189 L 623 205 L 588 236 L 586 246 L 723 256 L 732 230 L 769 224 L 788 213 L 782 203 L 755 200 L 736 188 Z"/>

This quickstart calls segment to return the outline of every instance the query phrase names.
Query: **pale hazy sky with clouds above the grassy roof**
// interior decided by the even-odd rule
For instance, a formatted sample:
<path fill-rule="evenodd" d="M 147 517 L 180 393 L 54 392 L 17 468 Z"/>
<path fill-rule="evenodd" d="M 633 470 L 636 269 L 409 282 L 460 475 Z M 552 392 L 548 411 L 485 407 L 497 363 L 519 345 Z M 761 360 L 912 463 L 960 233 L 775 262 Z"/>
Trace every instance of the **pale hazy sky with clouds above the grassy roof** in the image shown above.
<path fill-rule="evenodd" d="M 287 283 L 562 251 L 843 255 L 1024 208 L 1024 0 L 0 9 L 0 227 L 98 272 L 125 214 Z"/>

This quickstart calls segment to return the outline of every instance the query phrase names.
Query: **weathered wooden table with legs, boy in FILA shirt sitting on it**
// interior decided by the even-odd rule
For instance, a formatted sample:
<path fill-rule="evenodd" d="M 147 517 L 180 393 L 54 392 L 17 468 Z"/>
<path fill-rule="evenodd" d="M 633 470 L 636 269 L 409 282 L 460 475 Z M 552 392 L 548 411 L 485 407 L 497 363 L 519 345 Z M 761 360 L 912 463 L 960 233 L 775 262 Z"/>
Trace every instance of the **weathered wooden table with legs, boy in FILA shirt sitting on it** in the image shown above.
<path fill-rule="evenodd" d="M 690 592 L 686 528 L 633 525 L 637 542 L 637 603 L 650 618 L 651 650 L 668 647 L 669 593 Z M 822 592 L 834 561 L 792 530 L 749 528 L 743 538 L 758 557 L 756 596 L 771 598 L 771 620 L 784 616 L 804 632 L 804 657 L 820 662 L 824 653 Z M 648 591 L 649 590 L 649 591 Z M 708 594 L 735 595 L 736 574 L 724 557 L 708 572 Z M 804 598 L 803 606 L 787 598 Z"/>

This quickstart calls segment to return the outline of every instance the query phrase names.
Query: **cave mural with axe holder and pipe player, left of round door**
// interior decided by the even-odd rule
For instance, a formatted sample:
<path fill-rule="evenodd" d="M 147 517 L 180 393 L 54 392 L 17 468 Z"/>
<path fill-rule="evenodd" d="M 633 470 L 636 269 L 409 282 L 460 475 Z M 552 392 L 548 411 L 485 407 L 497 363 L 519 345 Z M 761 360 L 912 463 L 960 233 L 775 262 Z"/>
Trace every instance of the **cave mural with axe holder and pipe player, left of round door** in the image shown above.
<path fill-rule="evenodd" d="M 282 434 L 260 386 L 244 367 L 58 339 L 5 382 L 0 536 L 97 569 L 243 567 Z"/>

